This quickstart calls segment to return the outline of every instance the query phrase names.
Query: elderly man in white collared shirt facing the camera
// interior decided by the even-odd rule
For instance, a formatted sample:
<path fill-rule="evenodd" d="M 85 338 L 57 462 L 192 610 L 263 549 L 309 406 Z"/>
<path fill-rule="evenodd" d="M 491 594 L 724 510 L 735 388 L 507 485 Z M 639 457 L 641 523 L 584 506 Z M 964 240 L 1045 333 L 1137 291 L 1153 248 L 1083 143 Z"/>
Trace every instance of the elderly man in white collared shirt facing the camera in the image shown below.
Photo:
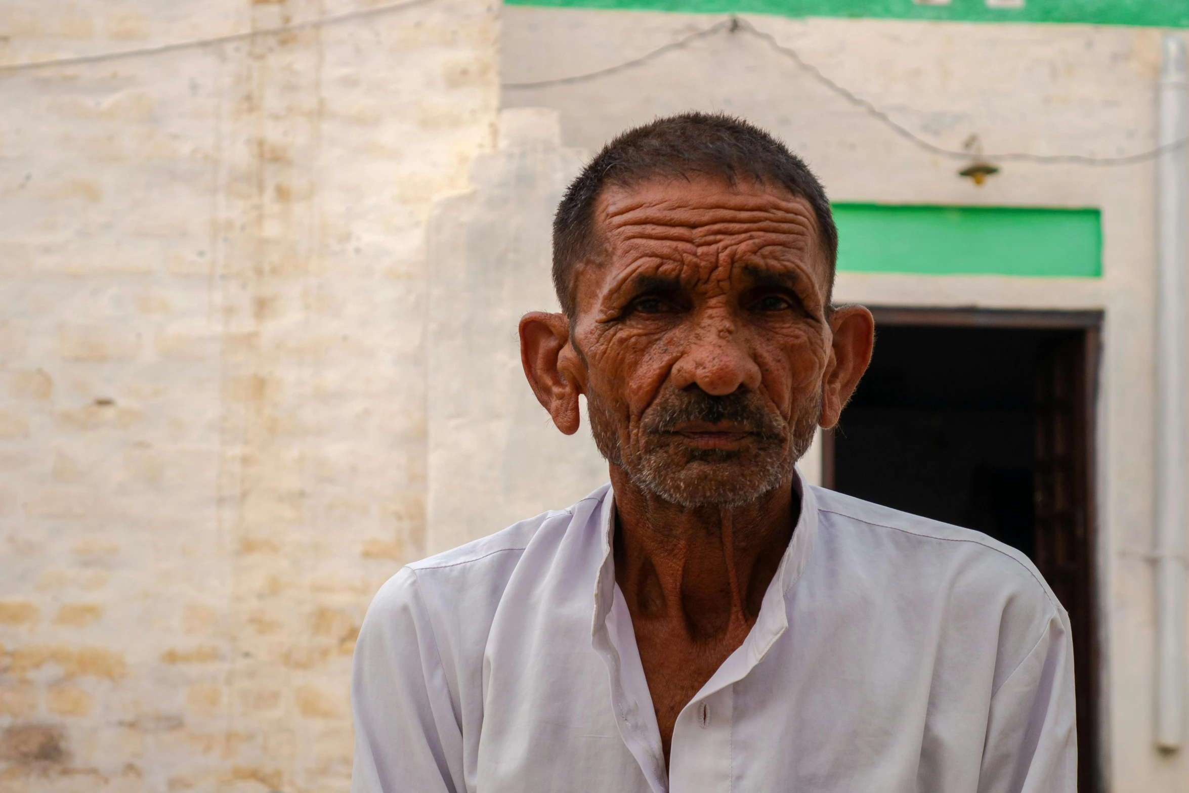
<path fill-rule="evenodd" d="M 586 166 L 564 313 L 520 335 L 611 482 L 384 585 L 357 793 L 1072 793 L 1069 622 L 1036 568 L 794 468 L 872 353 L 836 252 L 822 185 L 743 121 L 660 119 Z"/>

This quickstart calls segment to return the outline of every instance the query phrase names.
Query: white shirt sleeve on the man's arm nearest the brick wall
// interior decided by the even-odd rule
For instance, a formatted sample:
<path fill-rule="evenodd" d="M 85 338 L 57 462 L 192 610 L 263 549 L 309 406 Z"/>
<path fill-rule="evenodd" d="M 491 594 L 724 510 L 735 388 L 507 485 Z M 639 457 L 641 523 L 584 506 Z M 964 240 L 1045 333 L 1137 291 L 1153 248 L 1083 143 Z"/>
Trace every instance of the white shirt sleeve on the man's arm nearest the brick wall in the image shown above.
<path fill-rule="evenodd" d="M 463 731 L 417 587 L 405 567 L 372 600 L 351 676 L 352 793 L 460 793 Z"/>

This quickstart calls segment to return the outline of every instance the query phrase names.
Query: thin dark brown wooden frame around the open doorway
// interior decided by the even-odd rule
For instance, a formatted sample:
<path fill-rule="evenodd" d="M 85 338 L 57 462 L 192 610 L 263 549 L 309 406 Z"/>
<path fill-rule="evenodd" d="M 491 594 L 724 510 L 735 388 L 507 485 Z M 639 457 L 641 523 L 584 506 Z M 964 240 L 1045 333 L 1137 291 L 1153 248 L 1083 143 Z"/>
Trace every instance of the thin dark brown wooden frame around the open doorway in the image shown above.
<path fill-rule="evenodd" d="M 1086 543 L 1089 569 L 1087 571 L 1089 591 L 1088 630 L 1090 641 L 1087 646 L 1089 669 L 1075 671 L 1075 680 L 1086 686 L 1078 699 L 1088 701 L 1089 713 L 1078 718 L 1077 766 L 1078 791 L 1099 793 L 1106 789 L 1105 747 L 1107 743 L 1105 668 L 1101 662 L 1105 656 L 1105 632 L 1102 616 L 1106 613 L 1102 603 L 1103 558 L 1099 553 L 1099 508 L 1097 508 L 1097 403 L 1100 359 L 1102 354 L 1101 310 L 1061 310 L 1061 309 L 989 309 L 989 308 L 932 308 L 932 307 L 868 307 L 875 317 L 875 336 L 879 344 L 881 326 L 930 326 L 930 327 L 984 327 L 984 328 L 1028 328 L 1048 331 L 1076 331 L 1082 334 L 1082 405 L 1083 422 L 1081 454 L 1084 460 L 1086 492 Z M 832 489 L 835 484 L 835 440 L 833 430 L 822 432 L 822 485 Z M 1088 724 L 1086 722 L 1089 722 Z M 1089 726 L 1090 729 L 1084 729 Z"/>

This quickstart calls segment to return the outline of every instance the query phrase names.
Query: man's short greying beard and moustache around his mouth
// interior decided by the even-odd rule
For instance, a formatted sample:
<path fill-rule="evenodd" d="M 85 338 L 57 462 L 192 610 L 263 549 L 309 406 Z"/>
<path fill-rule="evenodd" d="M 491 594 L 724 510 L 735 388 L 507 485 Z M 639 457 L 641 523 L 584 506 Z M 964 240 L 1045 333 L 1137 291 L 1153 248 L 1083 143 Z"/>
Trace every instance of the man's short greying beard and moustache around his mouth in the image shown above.
<path fill-rule="evenodd" d="M 638 443 L 624 448 L 621 421 L 598 395 L 587 395 L 591 434 L 603 457 L 634 485 L 684 508 L 738 506 L 792 479 L 822 415 L 822 394 L 804 405 L 792 426 L 755 392 L 713 397 L 680 391 L 658 399 L 635 430 Z M 755 433 L 742 449 L 691 449 L 672 428 L 684 421 L 737 422 Z"/>

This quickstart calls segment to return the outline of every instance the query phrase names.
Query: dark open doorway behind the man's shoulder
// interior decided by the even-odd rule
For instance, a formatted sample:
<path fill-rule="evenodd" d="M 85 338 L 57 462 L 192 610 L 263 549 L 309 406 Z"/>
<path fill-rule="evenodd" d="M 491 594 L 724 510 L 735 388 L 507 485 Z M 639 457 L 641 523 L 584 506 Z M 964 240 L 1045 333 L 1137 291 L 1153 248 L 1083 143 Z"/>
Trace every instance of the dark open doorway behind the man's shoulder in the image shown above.
<path fill-rule="evenodd" d="M 1027 554 L 1069 612 L 1078 789 L 1101 789 L 1093 404 L 1099 313 L 873 309 L 875 354 L 833 433 L 828 487 Z"/>

